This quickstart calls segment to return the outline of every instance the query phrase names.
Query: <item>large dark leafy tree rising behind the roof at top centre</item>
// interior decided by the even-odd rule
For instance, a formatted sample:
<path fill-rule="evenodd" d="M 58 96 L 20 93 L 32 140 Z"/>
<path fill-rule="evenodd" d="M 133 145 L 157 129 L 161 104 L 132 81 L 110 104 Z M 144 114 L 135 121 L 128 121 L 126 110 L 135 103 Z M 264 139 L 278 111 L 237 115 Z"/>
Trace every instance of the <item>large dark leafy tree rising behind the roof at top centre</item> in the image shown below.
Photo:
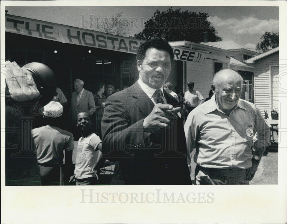
<path fill-rule="evenodd" d="M 208 13 L 196 13 L 173 10 L 156 10 L 154 15 L 146 21 L 142 32 L 134 35 L 137 39 L 148 40 L 162 38 L 166 41 L 188 40 L 195 43 L 203 42 L 203 32 L 208 31 L 208 41 L 222 41 L 217 31 L 208 21 Z"/>

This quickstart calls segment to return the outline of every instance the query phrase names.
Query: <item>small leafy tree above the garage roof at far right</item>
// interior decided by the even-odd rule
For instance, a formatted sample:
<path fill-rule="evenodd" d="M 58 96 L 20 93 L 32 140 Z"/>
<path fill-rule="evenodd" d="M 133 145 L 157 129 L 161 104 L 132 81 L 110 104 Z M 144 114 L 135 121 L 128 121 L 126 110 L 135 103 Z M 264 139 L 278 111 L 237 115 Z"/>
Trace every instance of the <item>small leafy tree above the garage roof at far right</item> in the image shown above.
<path fill-rule="evenodd" d="M 274 47 L 279 46 L 279 32 L 278 33 L 270 33 L 265 32 L 262 37 L 260 37 L 262 40 L 261 42 L 258 42 L 256 45 L 256 50 L 260 52 L 268 51 Z"/>

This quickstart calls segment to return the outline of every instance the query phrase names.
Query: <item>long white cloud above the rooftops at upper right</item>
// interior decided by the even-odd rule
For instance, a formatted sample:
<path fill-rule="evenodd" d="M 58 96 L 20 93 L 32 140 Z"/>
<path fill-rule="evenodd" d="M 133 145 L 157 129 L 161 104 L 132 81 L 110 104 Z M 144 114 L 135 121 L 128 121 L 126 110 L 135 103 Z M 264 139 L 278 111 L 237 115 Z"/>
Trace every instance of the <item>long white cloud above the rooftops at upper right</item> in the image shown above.
<path fill-rule="evenodd" d="M 278 32 L 279 20 L 277 19 L 257 19 L 255 17 L 246 17 L 242 19 L 229 18 L 221 19 L 217 16 L 209 17 L 208 21 L 214 26 L 214 28 L 226 28 L 233 31 L 235 34 L 245 35 L 249 34 L 264 34 L 267 32 Z"/>

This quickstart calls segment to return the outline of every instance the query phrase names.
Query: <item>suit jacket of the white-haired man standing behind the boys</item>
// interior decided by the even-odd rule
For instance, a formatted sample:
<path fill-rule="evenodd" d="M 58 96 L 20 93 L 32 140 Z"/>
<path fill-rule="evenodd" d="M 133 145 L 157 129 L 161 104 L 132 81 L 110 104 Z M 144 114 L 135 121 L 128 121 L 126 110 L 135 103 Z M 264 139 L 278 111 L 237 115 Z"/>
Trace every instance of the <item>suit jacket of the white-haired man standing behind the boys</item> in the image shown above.
<path fill-rule="evenodd" d="M 91 92 L 84 89 L 83 95 L 79 100 L 79 104 L 77 105 L 77 96 L 78 93 L 75 91 L 72 93 L 71 106 L 69 111 L 69 124 L 76 124 L 77 115 L 80 112 L 88 112 L 92 115 L 96 111 L 96 105 L 94 96 Z"/>

